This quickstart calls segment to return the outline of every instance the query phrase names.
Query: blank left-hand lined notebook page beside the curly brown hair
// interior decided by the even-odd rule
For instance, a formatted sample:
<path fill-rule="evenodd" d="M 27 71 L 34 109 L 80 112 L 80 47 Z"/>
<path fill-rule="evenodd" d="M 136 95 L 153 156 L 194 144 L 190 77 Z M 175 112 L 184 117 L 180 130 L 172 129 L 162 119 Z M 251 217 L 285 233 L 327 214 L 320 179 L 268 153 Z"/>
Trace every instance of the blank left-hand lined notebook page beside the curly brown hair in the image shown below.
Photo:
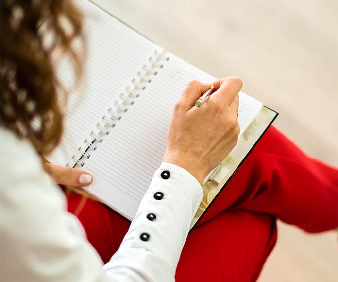
<path fill-rule="evenodd" d="M 149 58 L 154 60 L 162 48 L 153 44 L 129 27 L 122 24 L 94 4 L 76 1 L 76 7 L 84 16 L 84 34 L 87 53 L 82 57 L 84 76 L 76 91 L 68 96 L 61 149 L 51 156 L 51 161 L 60 163 L 69 161 L 73 151 L 79 146 L 84 148 L 84 139 L 96 130 L 97 123 L 107 115 L 109 107 L 115 102 L 121 103 L 120 94 L 125 92 L 131 81 L 139 79 L 138 72 L 145 72 L 145 65 L 151 66 Z M 64 23 L 66 28 L 70 28 Z M 49 40 L 53 39 L 53 35 Z M 48 40 L 46 42 L 48 45 Z M 68 88 L 74 83 L 74 74 L 70 60 L 55 58 L 57 76 Z"/>

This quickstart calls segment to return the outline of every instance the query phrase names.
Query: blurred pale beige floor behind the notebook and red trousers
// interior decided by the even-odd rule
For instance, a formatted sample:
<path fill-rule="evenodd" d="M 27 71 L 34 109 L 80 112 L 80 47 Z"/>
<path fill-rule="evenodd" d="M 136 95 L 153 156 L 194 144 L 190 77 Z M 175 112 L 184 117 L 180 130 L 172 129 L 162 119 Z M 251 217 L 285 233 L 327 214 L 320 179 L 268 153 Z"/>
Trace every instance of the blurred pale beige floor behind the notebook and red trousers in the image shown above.
<path fill-rule="evenodd" d="M 337 0 L 94 0 L 155 43 L 280 113 L 274 125 L 338 164 Z M 337 282 L 337 234 L 278 222 L 259 282 Z M 249 234 L 248 234 L 249 235 Z"/>

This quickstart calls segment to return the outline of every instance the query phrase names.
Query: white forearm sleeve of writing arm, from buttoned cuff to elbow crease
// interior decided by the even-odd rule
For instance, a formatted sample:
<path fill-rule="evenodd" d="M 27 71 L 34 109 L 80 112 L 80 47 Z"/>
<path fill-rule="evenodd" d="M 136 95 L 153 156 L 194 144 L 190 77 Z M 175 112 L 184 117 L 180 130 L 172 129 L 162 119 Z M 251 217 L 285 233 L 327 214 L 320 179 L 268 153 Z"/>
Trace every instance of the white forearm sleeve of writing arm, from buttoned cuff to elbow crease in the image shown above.
<path fill-rule="evenodd" d="M 174 164 L 162 163 L 120 248 L 104 266 L 108 275 L 114 281 L 119 281 L 118 277 L 142 282 L 174 281 L 202 197 L 201 185 L 191 174 Z"/>

